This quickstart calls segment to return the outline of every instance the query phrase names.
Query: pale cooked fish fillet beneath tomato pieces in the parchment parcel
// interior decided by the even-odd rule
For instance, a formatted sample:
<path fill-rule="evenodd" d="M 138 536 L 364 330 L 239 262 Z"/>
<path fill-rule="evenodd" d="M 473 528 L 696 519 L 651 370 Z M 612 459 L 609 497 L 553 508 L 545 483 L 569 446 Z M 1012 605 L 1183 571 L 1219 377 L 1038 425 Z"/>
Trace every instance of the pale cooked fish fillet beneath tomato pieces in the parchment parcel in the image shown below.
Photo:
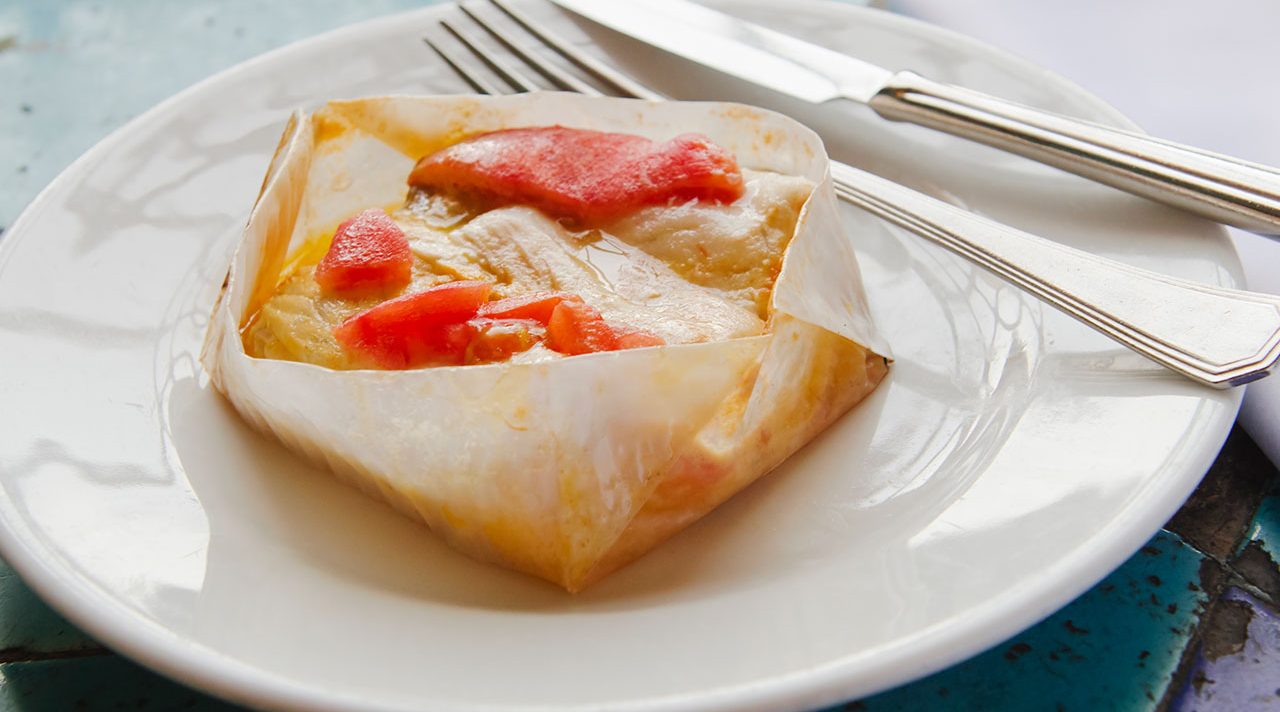
<path fill-rule="evenodd" d="M 769 291 L 813 184 L 777 173 L 744 173 L 746 192 L 733 204 L 645 207 L 588 231 L 571 231 L 530 207 L 475 214 L 456 198 L 413 192 L 392 214 L 415 255 L 406 292 L 480 279 L 495 283 L 503 297 L 579 295 L 609 321 L 672 344 L 760 334 Z M 317 246 L 305 251 L 323 254 Z M 383 297 L 324 295 L 314 271 L 314 264 L 302 264 L 284 279 L 246 330 L 246 351 L 330 369 L 361 368 L 343 352 L 333 329 Z M 517 360 L 558 357 L 539 347 Z"/>

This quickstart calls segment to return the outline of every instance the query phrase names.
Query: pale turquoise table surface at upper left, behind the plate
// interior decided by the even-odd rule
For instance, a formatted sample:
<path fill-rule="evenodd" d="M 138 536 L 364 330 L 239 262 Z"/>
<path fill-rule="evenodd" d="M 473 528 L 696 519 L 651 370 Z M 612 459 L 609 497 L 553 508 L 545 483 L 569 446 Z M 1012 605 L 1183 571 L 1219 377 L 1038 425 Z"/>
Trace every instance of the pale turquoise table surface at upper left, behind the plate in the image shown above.
<path fill-rule="evenodd" d="M 200 79 L 434 1 L 0 1 L 0 227 L 104 136 Z"/>

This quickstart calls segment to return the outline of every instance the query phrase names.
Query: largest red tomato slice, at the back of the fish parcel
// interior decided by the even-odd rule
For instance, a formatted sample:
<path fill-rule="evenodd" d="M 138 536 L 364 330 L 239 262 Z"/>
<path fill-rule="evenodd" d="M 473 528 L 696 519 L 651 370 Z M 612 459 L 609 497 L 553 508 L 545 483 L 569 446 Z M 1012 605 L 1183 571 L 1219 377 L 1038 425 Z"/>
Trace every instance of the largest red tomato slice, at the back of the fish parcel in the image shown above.
<path fill-rule="evenodd" d="M 559 125 L 474 136 L 419 160 L 408 183 L 532 205 L 585 223 L 672 200 L 732 202 L 742 195 L 737 161 L 705 136 L 659 143 Z"/>

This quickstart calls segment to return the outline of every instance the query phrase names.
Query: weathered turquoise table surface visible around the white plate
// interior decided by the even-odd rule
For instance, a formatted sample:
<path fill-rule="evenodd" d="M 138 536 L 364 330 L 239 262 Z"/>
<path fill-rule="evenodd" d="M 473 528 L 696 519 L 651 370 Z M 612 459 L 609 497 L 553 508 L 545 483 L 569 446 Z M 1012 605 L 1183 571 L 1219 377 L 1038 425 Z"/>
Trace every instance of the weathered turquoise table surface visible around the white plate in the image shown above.
<path fill-rule="evenodd" d="M 288 41 L 422 4 L 0 5 L 0 227 L 82 151 L 187 85 Z M 1092 590 L 961 665 L 846 708 L 1280 709 L 1277 611 L 1280 476 L 1236 430 L 1183 510 Z M 0 707 L 229 708 L 104 649 L 3 562 Z"/>

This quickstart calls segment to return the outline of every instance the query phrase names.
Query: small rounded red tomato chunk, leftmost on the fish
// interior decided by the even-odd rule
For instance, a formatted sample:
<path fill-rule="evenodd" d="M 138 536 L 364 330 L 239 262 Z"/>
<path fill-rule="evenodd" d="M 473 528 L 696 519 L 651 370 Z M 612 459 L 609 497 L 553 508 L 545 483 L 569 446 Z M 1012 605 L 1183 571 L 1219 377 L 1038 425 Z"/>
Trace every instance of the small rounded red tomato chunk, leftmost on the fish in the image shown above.
<path fill-rule="evenodd" d="M 412 266 L 404 232 L 385 211 L 372 209 L 338 225 L 315 279 L 340 296 L 393 292 L 410 283 Z"/>

